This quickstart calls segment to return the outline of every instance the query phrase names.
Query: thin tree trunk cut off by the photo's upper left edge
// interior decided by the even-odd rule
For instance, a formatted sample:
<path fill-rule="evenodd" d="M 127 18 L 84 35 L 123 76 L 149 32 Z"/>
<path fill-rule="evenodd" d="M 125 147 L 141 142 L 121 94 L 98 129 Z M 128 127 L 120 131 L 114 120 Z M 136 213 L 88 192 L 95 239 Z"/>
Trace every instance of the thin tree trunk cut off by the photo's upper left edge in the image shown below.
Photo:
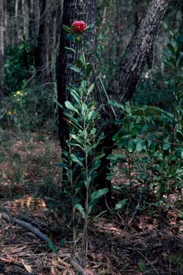
<path fill-rule="evenodd" d="M 0 0 L 0 99 L 4 94 L 4 0 Z"/>

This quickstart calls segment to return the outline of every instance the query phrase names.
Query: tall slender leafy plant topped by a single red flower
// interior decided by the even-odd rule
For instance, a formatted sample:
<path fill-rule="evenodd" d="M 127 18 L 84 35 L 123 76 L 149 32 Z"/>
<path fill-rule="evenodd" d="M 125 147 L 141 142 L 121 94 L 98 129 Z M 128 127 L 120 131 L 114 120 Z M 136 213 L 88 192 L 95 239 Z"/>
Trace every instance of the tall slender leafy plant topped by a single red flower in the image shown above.
<path fill-rule="evenodd" d="M 84 43 L 84 31 L 91 26 L 84 27 L 82 31 L 77 29 L 77 23 L 69 28 L 65 25 L 64 30 L 69 33 L 69 38 L 77 45 L 77 51 L 72 51 L 77 60 L 75 65 L 69 66 L 77 73 L 79 84 L 67 86 L 70 92 L 71 101 L 65 102 L 64 116 L 69 124 L 69 139 L 66 140 L 68 150 L 62 151 L 62 166 L 66 171 L 64 180 L 64 192 L 71 199 L 73 207 L 73 222 L 75 221 L 75 211 L 79 211 L 84 219 L 84 230 L 82 238 L 82 250 L 87 252 L 87 228 L 88 218 L 93 212 L 99 197 L 108 192 L 108 189 L 96 189 L 93 186 L 97 169 L 100 166 L 100 159 L 103 153 L 97 154 L 97 146 L 103 140 L 103 133 L 97 131 L 99 112 L 97 105 L 93 101 L 95 84 L 90 83 L 93 73 L 93 66 L 86 57 L 86 45 Z M 84 26 L 84 23 L 81 23 Z M 75 243 L 76 232 L 73 226 L 73 240 Z"/>

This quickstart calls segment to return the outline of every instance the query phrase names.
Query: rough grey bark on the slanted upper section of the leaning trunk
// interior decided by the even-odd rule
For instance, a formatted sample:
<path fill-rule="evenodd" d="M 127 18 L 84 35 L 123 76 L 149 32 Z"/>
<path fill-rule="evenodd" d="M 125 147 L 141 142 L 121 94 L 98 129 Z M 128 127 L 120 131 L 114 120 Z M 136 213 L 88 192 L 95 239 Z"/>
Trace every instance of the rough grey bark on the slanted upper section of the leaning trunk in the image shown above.
<path fill-rule="evenodd" d="M 134 88 L 145 65 L 145 56 L 158 34 L 169 2 L 169 0 L 152 0 L 149 3 L 147 12 L 134 32 L 119 69 L 108 88 L 111 99 L 123 104 L 132 98 Z M 110 112 L 110 118 L 111 114 Z"/>

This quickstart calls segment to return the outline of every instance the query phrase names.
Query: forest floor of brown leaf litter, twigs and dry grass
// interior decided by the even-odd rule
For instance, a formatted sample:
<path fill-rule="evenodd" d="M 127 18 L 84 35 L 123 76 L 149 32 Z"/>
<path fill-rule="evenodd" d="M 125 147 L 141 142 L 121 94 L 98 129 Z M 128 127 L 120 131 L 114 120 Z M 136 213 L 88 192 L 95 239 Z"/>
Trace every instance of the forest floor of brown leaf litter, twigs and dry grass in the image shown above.
<path fill-rule="evenodd" d="M 1 131 L 0 275 L 78 274 L 71 263 L 70 213 L 60 198 L 59 161 L 57 137 L 48 131 Z M 90 220 L 85 272 L 183 274 L 182 219 L 175 207 L 166 215 L 160 224 L 156 209 L 150 213 L 137 204 L 126 215 L 107 212 Z M 32 224 L 53 246 L 12 218 Z"/>

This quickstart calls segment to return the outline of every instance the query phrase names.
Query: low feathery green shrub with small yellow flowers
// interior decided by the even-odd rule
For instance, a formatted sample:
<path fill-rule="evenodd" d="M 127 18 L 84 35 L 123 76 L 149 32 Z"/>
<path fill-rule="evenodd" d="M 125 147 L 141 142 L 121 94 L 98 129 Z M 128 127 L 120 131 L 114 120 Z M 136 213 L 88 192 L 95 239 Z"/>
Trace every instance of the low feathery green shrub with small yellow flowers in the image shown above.
<path fill-rule="evenodd" d="M 56 119 L 56 92 L 53 85 L 25 86 L 5 96 L 0 103 L 0 122 L 29 131 Z"/>

